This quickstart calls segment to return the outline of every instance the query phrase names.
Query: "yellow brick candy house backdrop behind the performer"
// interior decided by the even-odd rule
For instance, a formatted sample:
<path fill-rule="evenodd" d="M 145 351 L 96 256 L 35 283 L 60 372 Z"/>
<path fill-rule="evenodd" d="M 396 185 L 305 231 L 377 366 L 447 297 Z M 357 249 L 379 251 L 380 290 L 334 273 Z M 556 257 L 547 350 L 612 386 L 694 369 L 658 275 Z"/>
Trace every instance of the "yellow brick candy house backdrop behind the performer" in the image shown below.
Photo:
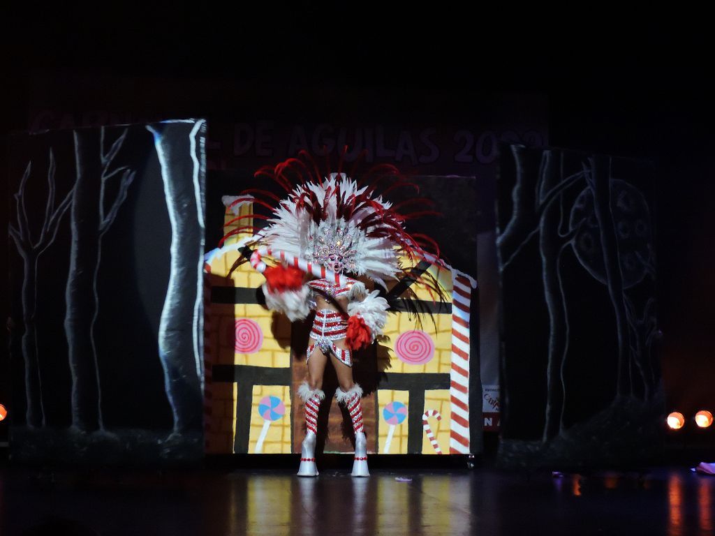
<path fill-rule="evenodd" d="M 234 225 L 248 227 L 250 214 L 252 203 L 246 202 L 226 209 L 225 222 L 246 216 Z M 300 452 L 305 432 L 302 401 L 295 393 L 307 374 L 310 323 L 290 322 L 267 309 L 260 289 L 265 278 L 249 262 L 231 271 L 252 254 L 242 245 L 249 237 L 248 231 L 237 232 L 209 252 L 204 264 L 207 454 Z M 353 367 L 365 391 L 368 452 L 470 454 L 480 430 L 475 424 L 481 424 L 480 412 L 470 414 L 471 406 L 480 409 L 481 397 L 477 284 L 470 275 L 429 259 L 410 273 L 383 291 L 390 303 L 384 335 L 358 354 Z M 425 278 L 438 283 L 441 297 Z M 476 378 L 470 379 L 470 369 Z M 335 387 L 328 372 L 318 452 L 354 449 L 350 420 L 330 396 Z"/>

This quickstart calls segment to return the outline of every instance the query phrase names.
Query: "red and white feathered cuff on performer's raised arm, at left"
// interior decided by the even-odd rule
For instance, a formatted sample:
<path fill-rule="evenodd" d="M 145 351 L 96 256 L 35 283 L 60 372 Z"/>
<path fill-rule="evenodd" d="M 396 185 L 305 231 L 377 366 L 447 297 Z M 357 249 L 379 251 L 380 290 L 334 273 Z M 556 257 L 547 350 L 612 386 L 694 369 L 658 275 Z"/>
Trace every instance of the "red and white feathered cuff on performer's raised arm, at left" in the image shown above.
<path fill-rule="evenodd" d="M 307 317 L 310 313 L 310 288 L 302 284 L 300 270 L 277 266 L 267 268 L 263 274 L 266 282 L 262 289 L 268 309 L 285 313 L 291 322 Z"/>

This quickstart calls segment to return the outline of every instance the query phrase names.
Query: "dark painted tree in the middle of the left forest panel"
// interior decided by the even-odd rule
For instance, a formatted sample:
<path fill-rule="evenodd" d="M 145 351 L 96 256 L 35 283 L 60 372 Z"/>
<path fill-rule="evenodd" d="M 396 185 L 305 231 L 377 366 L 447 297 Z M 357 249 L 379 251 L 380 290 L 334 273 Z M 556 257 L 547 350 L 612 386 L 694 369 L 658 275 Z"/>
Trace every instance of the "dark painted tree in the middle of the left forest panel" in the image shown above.
<path fill-rule="evenodd" d="M 92 130 L 76 130 L 73 133 L 77 183 L 71 198 L 64 328 L 72 378 L 72 426 L 82 431 L 104 427 L 97 344 L 94 340 L 94 326 L 99 314 L 97 274 L 102 260 L 102 237 L 116 219 L 119 207 L 127 199 L 127 189 L 134 180 L 134 172 L 127 166 L 114 165 L 127 131 L 124 129 L 109 149 L 106 147 L 105 127 L 100 130 L 99 137 Z M 110 202 L 105 199 L 107 183 L 115 176 L 119 186 Z"/>

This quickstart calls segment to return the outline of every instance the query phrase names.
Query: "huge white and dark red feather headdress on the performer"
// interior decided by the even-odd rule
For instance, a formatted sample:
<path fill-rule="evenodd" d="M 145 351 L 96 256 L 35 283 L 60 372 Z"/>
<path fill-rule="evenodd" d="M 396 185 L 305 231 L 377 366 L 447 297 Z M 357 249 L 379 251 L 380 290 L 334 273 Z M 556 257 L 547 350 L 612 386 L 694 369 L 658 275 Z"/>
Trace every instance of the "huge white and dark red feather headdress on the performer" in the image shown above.
<path fill-rule="evenodd" d="M 255 208 L 270 210 L 268 216 L 240 217 L 267 220 L 262 229 L 250 227 L 255 234 L 253 244 L 324 266 L 339 259 L 341 272 L 366 276 L 383 286 L 383 279 L 403 275 L 400 257 L 410 261 L 439 258 L 432 239 L 405 230 L 408 219 L 438 214 L 425 209 L 430 200 L 411 195 L 393 205 L 385 199 L 399 188 L 418 192 L 417 185 L 402 177 L 397 168 L 376 166 L 358 181 L 342 172 L 342 165 L 337 172 L 322 175 L 310 155 L 302 152 L 299 156 L 275 167 L 263 167 L 255 174 L 257 179 L 279 184 L 285 190 L 283 199 L 262 189 L 250 189 L 237 197 L 235 203 L 250 198 Z M 418 209 L 402 212 L 410 206 Z M 239 227 L 225 239 L 247 228 Z"/>

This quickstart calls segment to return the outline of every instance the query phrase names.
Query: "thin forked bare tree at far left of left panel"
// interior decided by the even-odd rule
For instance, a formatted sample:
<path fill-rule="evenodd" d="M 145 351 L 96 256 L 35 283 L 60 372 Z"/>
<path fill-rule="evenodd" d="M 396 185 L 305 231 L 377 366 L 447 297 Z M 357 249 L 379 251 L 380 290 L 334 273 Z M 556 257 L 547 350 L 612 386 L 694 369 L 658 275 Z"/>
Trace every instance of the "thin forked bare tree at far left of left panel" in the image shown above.
<path fill-rule="evenodd" d="M 37 349 L 37 327 L 35 314 L 37 309 L 37 262 L 41 254 L 54 243 L 59 223 L 69 208 L 74 188 L 55 205 L 55 161 L 54 152 L 49 149 L 49 167 L 47 170 L 47 200 L 41 231 L 36 239 L 31 237 L 30 221 L 25 206 L 25 192 L 30 177 L 32 162 L 28 162 L 25 172 L 14 194 L 16 225 L 9 224 L 8 232 L 23 260 L 22 279 L 22 355 L 25 364 L 26 424 L 29 427 L 45 425 L 42 400 L 42 375 Z"/>

